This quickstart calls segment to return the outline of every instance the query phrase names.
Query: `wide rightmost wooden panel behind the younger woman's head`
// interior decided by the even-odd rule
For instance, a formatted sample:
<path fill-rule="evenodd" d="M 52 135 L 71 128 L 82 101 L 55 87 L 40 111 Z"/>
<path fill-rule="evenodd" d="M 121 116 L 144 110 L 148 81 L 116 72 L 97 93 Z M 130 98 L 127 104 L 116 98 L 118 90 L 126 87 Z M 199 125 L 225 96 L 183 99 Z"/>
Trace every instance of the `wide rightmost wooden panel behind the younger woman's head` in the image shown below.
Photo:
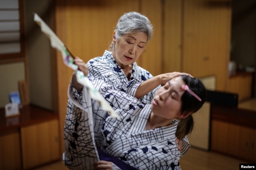
<path fill-rule="evenodd" d="M 224 90 L 230 55 L 230 0 L 184 0 L 183 71 L 216 76 Z"/>

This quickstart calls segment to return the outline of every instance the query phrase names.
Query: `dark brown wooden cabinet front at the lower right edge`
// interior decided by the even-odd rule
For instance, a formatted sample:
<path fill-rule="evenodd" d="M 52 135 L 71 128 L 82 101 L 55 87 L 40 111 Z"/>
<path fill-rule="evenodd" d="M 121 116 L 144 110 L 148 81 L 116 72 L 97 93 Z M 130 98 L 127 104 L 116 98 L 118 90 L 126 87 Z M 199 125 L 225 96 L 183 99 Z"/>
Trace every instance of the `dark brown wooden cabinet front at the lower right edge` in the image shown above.
<path fill-rule="evenodd" d="M 219 120 L 211 122 L 211 150 L 256 162 L 256 130 Z"/>

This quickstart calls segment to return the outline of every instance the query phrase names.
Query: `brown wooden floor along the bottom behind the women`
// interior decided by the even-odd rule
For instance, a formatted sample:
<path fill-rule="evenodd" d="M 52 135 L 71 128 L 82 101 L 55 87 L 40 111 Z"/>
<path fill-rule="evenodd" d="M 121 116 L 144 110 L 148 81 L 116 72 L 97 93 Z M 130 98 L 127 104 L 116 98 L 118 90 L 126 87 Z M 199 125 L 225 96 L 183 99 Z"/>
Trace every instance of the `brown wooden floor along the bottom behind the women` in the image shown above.
<path fill-rule="evenodd" d="M 190 148 L 189 152 L 180 159 L 182 170 L 238 170 L 239 163 L 247 162 L 195 148 Z M 68 168 L 59 161 L 34 170 L 68 170 Z"/>

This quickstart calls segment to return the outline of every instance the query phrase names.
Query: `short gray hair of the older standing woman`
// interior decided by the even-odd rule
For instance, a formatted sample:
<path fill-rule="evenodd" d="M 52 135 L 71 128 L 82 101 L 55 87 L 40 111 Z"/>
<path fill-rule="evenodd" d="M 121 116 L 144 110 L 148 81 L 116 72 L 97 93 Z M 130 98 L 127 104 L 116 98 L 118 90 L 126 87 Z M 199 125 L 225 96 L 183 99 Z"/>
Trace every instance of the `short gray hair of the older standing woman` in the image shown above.
<path fill-rule="evenodd" d="M 115 32 L 115 38 L 117 40 L 124 34 L 143 32 L 147 34 L 148 42 L 153 34 L 153 25 L 151 24 L 147 16 L 132 11 L 124 13 L 124 15 L 119 18 L 115 27 Z M 110 47 L 113 50 L 113 42 L 111 43 Z"/>

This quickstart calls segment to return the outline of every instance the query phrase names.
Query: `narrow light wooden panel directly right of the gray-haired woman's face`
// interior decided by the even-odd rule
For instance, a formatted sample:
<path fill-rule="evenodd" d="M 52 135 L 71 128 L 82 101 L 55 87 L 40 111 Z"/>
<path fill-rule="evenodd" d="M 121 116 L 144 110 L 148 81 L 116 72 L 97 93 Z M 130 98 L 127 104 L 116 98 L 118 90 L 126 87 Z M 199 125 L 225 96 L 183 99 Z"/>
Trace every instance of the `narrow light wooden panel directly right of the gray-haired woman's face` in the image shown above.
<path fill-rule="evenodd" d="M 141 0 L 141 11 L 139 11 L 146 15 L 151 21 L 154 26 L 154 33 L 137 63 L 154 76 L 163 73 L 161 2 L 162 0 Z"/>

